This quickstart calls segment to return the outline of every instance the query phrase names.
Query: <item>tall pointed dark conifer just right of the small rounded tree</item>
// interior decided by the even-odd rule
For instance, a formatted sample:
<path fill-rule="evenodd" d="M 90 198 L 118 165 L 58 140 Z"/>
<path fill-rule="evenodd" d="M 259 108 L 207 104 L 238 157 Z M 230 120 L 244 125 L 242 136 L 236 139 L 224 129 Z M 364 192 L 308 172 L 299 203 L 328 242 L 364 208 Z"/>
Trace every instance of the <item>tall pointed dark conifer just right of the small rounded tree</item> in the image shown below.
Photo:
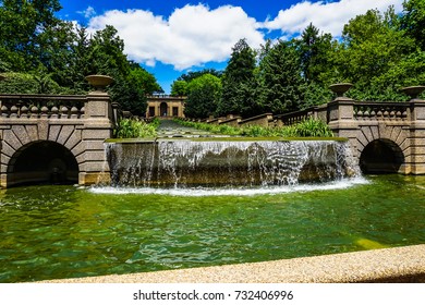
<path fill-rule="evenodd" d="M 255 51 L 241 39 L 232 49 L 228 66 L 222 76 L 222 95 L 217 114 L 258 114 L 255 101 Z"/>

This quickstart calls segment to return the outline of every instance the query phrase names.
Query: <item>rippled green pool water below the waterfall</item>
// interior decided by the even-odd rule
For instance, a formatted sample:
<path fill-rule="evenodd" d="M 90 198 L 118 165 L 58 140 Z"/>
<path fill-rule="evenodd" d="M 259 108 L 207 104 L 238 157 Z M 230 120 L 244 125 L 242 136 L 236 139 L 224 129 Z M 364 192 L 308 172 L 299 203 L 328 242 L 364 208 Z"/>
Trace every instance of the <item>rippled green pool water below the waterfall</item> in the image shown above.
<path fill-rule="evenodd" d="M 425 176 L 366 181 L 270 192 L 148 194 L 47 185 L 3 190 L 0 282 L 425 243 Z"/>

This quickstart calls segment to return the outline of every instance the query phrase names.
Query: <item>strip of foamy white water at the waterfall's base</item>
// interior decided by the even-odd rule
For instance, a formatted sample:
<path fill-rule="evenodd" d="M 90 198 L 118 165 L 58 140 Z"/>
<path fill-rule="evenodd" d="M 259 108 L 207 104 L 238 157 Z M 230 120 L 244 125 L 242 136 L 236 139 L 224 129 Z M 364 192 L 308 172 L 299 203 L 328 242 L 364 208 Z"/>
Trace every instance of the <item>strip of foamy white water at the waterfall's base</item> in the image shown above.
<path fill-rule="evenodd" d="M 255 196 L 255 195 L 274 195 L 286 194 L 294 192 L 313 192 L 313 191 L 331 191 L 344 190 L 355 185 L 368 184 L 363 176 L 342 179 L 323 184 L 299 184 L 299 185 L 283 185 L 269 187 L 232 187 L 232 188 L 207 188 L 207 187 L 175 187 L 175 188 L 154 188 L 154 187 L 113 187 L 113 186 L 93 186 L 88 191 L 94 194 L 141 194 L 141 195 L 169 195 L 169 196 Z"/>

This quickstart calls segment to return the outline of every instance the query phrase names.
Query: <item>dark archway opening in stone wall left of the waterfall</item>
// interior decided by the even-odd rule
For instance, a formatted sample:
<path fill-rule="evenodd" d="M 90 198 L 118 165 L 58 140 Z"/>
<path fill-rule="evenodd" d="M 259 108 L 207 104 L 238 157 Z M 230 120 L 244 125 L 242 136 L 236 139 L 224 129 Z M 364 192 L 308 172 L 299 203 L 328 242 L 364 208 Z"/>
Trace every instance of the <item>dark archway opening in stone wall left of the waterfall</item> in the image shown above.
<path fill-rule="evenodd" d="M 78 163 L 64 146 L 49 141 L 24 146 L 9 167 L 11 184 L 71 184 L 78 182 Z"/>

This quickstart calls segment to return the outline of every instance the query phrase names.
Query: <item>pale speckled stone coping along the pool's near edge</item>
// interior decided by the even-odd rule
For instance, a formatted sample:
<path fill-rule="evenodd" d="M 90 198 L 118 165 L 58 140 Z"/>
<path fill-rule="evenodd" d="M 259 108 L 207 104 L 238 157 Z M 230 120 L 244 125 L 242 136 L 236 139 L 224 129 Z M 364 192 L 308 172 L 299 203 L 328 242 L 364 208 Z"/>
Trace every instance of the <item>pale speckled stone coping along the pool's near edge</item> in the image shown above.
<path fill-rule="evenodd" d="M 425 244 L 274 261 L 42 283 L 425 283 Z"/>

